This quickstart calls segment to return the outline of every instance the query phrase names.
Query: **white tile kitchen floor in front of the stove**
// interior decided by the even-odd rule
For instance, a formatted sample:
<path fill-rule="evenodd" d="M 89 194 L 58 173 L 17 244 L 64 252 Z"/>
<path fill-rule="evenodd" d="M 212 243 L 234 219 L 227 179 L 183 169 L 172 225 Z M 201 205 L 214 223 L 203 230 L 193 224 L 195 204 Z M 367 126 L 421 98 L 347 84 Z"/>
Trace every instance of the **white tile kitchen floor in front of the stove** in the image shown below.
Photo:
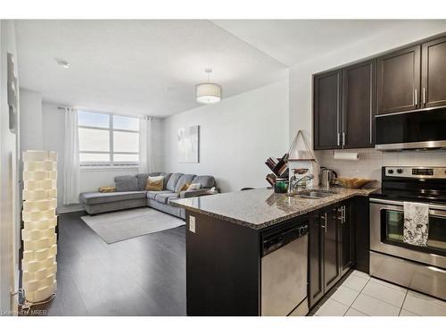
<path fill-rule="evenodd" d="M 316 316 L 446 316 L 446 301 L 354 271 Z"/>

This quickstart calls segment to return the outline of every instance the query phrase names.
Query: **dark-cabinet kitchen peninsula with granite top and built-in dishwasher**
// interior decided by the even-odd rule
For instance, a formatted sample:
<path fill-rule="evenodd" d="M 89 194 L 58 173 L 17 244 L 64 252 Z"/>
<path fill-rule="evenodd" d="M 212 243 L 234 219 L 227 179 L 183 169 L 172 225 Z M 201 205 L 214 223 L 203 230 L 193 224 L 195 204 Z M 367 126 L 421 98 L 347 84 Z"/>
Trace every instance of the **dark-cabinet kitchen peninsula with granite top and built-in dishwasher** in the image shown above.
<path fill-rule="evenodd" d="M 354 264 L 368 266 L 355 222 L 367 218 L 372 190 L 317 198 L 258 188 L 172 201 L 186 209 L 187 314 L 307 314 Z"/>

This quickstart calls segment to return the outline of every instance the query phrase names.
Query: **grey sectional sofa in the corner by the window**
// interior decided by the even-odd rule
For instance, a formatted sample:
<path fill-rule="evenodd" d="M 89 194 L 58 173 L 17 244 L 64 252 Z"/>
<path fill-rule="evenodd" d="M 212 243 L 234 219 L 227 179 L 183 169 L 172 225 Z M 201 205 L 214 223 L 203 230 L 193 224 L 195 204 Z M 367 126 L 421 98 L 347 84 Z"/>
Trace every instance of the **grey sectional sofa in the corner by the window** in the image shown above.
<path fill-rule="evenodd" d="M 161 191 L 146 191 L 145 184 L 149 176 L 164 176 L 164 187 Z M 185 219 L 182 208 L 169 204 L 170 200 L 182 197 L 198 197 L 209 194 L 211 188 L 216 188 L 212 176 L 196 176 L 183 173 L 142 173 L 136 176 L 120 176 L 114 179 L 116 192 L 100 193 L 85 192 L 79 195 L 79 203 L 88 214 L 99 214 L 121 209 L 149 206 L 162 212 Z M 201 189 L 181 191 L 189 183 L 200 183 Z M 216 188 L 218 190 L 218 188 Z"/>

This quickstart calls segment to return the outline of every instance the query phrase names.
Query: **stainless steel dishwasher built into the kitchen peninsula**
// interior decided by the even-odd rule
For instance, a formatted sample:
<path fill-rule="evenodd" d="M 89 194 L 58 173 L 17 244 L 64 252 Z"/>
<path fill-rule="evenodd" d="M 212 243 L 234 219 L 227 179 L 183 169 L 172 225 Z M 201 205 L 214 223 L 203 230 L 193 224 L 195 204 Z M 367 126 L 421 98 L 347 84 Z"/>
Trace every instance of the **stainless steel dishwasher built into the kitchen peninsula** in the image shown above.
<path fill-rule="evenodd" d="M 297 219 L 280 227 L 261 237 L 261 315 L 305 315 L 308 220 Z"/>

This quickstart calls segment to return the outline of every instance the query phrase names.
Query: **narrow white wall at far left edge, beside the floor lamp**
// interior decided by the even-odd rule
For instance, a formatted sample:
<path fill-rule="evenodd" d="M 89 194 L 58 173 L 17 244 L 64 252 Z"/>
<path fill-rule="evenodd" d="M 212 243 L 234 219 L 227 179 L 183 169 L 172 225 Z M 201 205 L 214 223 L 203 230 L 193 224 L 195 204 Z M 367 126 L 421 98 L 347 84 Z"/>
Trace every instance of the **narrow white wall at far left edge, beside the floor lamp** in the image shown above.
<path fill-rule="evenodd" d="M 7 313 L 17 305 L 12 301 L 11 292 L 18 289 L 21 208 L 17 164 L 20 130 L 14 134 L 9 129 L 7 103 L 6 54 L 14 54 L 17 62 L 13 21 L 0 21 L 0 37 L 0 310 Z M 20 124 L 20 118 L 18 121 Z"/>

